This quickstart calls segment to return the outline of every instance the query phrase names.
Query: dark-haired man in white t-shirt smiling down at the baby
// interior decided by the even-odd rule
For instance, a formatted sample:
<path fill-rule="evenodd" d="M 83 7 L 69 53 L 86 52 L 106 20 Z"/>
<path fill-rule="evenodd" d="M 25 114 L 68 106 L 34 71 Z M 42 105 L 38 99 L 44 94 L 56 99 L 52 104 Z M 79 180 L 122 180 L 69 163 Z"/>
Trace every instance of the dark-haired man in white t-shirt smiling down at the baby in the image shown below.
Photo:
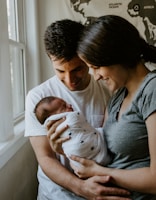
<path fill-rule="evenodd" d="M 45 32 L 45 49 L 53 63 L 56 75 L 29 91 L 26 99 L 25 136 L 35 151 L 38 169 L 38 200 L 80 200 L 108 196 L 108 199 L 127 191 L 107 188 L 109 177 L 76 177 L 68 161 L 56 155 L 49 144 L 47 131 L 35 117 L 34 108 L 41 98 L 57 96 L 69 102 L 74 110 L 83 112 L 88 122 L 96 127 L 103 124 L 104 111 L 110 94 L 102 81 L 95 82 L 89 69 L 76 54 L 83 25 L 71 20 L 51 24 Z M 104 198 L 103 198 L 104 199 Z M 127 199 L 116 197 L 115 199 Z"/>

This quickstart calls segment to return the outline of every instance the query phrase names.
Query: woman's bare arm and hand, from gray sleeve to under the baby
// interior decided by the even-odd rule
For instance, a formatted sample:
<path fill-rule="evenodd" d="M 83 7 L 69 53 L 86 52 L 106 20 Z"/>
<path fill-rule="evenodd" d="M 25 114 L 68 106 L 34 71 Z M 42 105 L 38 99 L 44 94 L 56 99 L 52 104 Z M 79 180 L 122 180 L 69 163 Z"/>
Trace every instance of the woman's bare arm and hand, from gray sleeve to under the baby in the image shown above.
<path fill-rule="evenodd" d="M 112 182 L 120 187 L 132 191 L 156 194 L 156 113 L 150 115 L 146 120 L 149 138 L 150 166 L 132 170 L 106 168 L 97 165 L 91 160 L 72 156 L 82 164 L 82 167 L 73 166 L 79 177 L 90 177 L 94 175 L 108 175 Z"/>

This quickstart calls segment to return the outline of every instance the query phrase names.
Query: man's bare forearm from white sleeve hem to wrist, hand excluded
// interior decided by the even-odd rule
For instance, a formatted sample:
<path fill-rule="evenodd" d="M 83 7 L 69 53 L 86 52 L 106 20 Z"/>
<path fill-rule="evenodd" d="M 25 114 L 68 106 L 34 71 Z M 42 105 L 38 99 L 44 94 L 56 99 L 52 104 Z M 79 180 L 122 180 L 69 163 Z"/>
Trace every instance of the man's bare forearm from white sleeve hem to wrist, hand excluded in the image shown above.
<path fill-rule="evenodd" d="M 57 160 L 56 154 L 49 145 L 47 136 L 30 137 L 30 142 L 35 151 L 38 163 L 44 173 L 55 183 L 72 190 L 75 184 L 78 184 L 77 182 L 75 183 L 74 180 L 79 180 L 79 178 L 72 174 L 59 162 L 59 160 Z"/>

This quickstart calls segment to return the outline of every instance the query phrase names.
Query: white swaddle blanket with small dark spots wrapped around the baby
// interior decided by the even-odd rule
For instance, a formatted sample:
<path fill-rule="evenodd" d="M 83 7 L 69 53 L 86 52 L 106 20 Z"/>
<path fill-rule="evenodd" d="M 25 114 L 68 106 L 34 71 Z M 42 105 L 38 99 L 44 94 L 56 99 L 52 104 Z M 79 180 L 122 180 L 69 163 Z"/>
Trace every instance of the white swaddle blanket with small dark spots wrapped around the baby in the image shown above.
<path fill-rule="evenodd" d="M 66 117 L 66 120 L 61 123 L 57 129 L 68 125 L 69 128 L 61 135 L 61 137 L 70 136 L 70 140 L 62 144 L 65 155 L 70 159 L 71 155 L 77 155 L 82 158 L 92 159 L 101 165 L 106 165 L 110 162 L 110 157 L 107 153 L 107 147 L 102 133 L 102 128 L 93 128 L 85 119 L 82 113 L 65 112 L 50 116 L 44 123 L 49 120 L 57 120 Z M 77 162 L 70 159 L 74 165 Z"/>

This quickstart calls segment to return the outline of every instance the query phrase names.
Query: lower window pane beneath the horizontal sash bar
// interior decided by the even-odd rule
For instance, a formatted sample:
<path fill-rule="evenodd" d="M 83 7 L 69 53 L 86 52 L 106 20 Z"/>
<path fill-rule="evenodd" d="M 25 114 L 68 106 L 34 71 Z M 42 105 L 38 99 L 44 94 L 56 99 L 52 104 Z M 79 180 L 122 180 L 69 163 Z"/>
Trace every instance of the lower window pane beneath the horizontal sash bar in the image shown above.
<path fill-rule="evenodd" d="M 24 112 L 25 89 L 23 53 L 21 48 L 10 45 L 10 70 L 14 119 L 20 117 Z"/>

